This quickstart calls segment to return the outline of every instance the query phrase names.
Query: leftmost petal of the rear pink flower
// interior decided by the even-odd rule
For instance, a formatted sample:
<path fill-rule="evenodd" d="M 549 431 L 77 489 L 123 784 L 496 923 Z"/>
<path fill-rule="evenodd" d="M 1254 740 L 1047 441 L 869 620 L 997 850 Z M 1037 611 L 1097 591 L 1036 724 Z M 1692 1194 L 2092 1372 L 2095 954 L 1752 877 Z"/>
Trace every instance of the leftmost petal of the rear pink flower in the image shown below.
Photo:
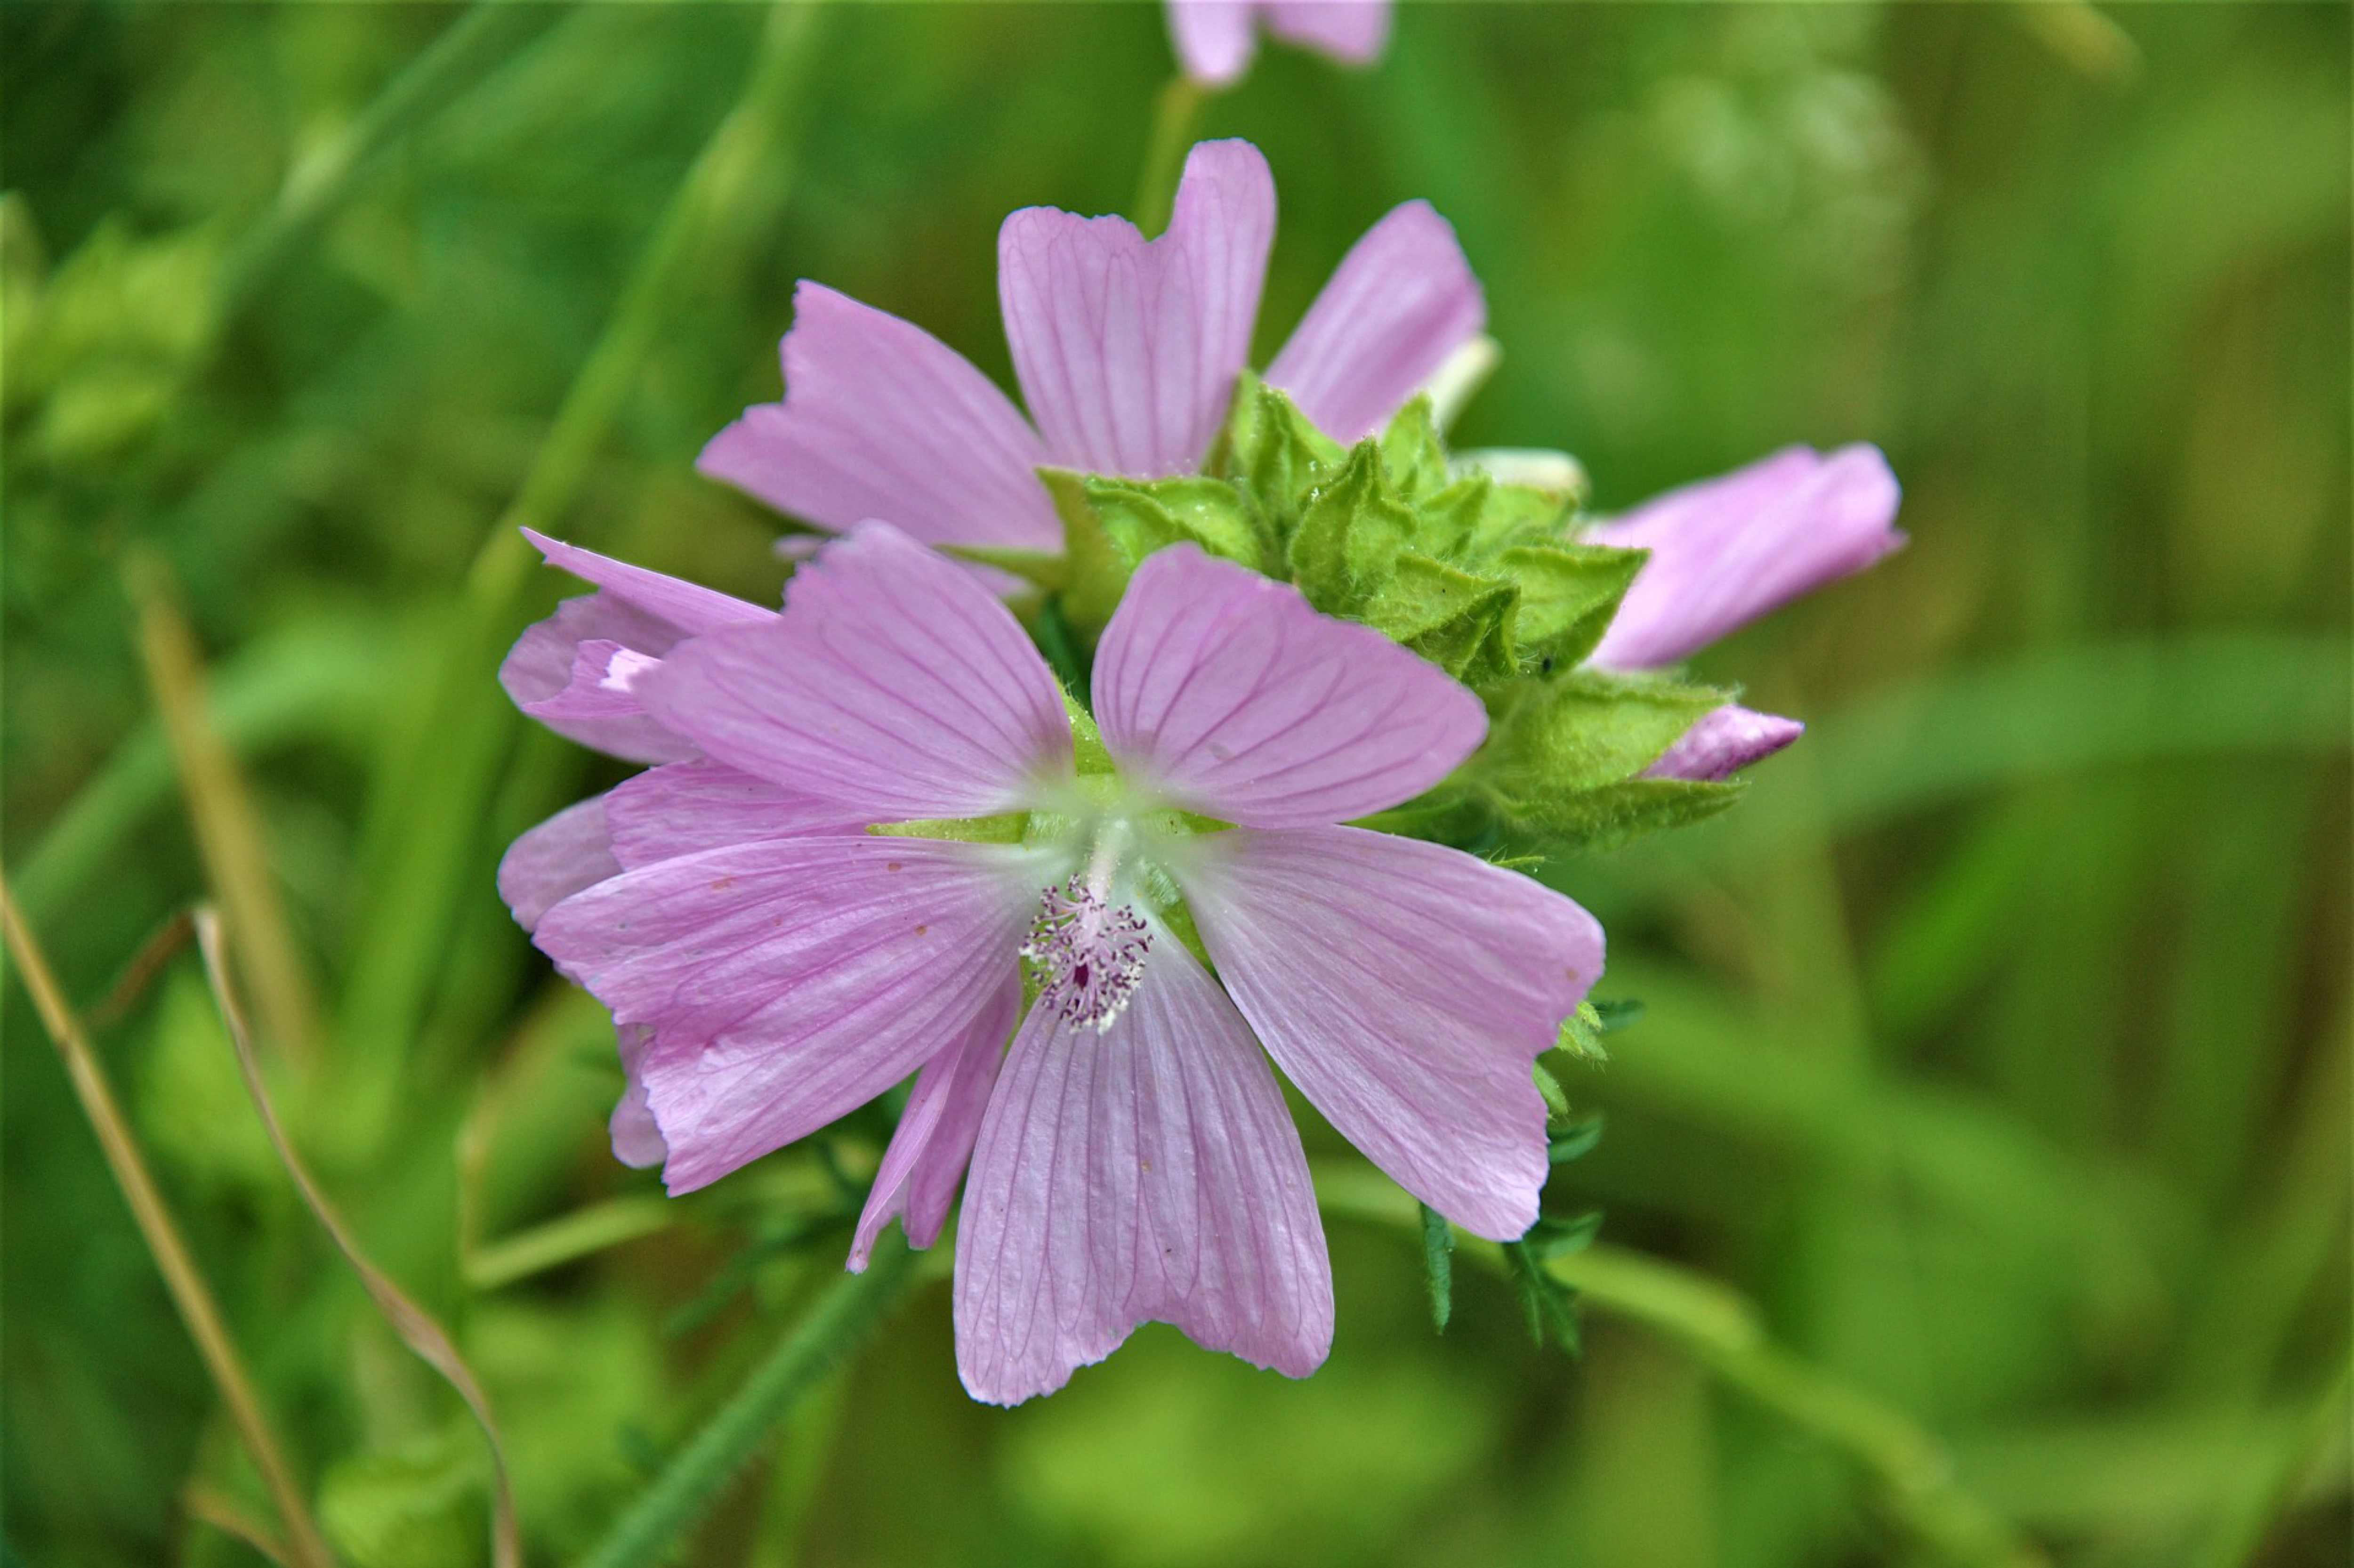
<path fill-rule="evenodd" d="M 803 283 L 784 403 L 744 410 L 694 466 L 831 530 L 885 518 L 925 544 L 1059 551 L 1043 461 L 1038 433 L 965 356 Z"/>

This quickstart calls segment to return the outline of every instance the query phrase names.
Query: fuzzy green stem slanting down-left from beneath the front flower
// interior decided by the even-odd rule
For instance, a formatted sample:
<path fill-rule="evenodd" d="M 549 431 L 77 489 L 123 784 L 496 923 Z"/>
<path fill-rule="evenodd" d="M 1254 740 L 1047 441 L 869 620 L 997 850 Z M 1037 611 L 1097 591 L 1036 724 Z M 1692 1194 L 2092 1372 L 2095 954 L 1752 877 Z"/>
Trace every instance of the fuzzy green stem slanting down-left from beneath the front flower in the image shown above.
<path fill-rule="evenodd" d="M 916 1253 L 895 1231 L 885 1234 L 866 1271 L 836 1281 L 817 1311 L 751 1370 L 734 1398 L 678 1450 L 581 1568 L 666 1561 L 770 1429 L 873 1333 L 916 1278 Z"/>

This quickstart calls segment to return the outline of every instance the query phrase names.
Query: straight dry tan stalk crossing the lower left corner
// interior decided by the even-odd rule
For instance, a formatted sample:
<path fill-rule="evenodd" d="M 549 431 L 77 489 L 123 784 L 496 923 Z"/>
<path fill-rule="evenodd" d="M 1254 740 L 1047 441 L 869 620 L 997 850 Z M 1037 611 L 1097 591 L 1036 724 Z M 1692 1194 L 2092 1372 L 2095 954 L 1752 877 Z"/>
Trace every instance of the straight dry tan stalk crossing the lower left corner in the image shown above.
<path fill-rule="evenodd" d="M 73 1005 L 49 970 L 47 954 L 40 951 L 40 942 L 16 911 L 16 897 L 9 892 L 7 881 L 0 881 L 0 932 L 7 937 L 7 954 L 16 965 L 16 977 L 33 996 L 33 1008 L 40 1012 L 40 1022 L 47 1026 L 49 1041 L 66 1064 L 73 1095 L 82 1102 L 82 1116 L 89 1118 L 89 1128 L 99 1135 L 99 1149 L 106 1154 L 106 1165 L 122 1189 L 122 1201 L 129 1203 L 139 1236 L 155 1257 L 165 1290 L 172 1293 L 172 1304 L 179 1309 L 181 1323 L 188 1326 L 188 1337 L 195 1340 L 195 1354 L 205 1361 L 212 1384 L 221 1391 L 221 1406 L 228 1408 L 228 1420 L 245 1441 L 245 1450 L 252 1455 L 254 1469 L 261 1471 L 261 1483 L 278 1507 L 287 1559 L 297 1568 L 332 1568 L 334 1556 L 327 1552 L 318 1523 L 311 1521 L 311 1504 L 304 1497 L 301 1481 L 294 1479 L 294 1467 L 287 1464 L 285 1448 L 278 1446 L 278 1431 L 271 1427 L 268 1413 L 261 1408 L 261 1396 L 254 1391 L 252 1373 L 245 1370 L 245 1358 L 238 1354 L 235 1340 L 228 1337 L 221 1304 L 212 1297 L 212 1285 L 205 1283 L 202 1271 L 195 1267 L 195 1257 L 179 1234 L 179 1222 L 165 1208 L 162 1191 L 155 1189 L 155 1177 L 148 1172 L 146 1156 L 132 1137 L 129 1121 L 125 1121 L 122 1107 L 115 1104 L 115 1092 L 108 1088 L 106 1074 L 99 1069 L 99 1057 L 89 1048 L 82 1019 L 73 1015 Z"/>

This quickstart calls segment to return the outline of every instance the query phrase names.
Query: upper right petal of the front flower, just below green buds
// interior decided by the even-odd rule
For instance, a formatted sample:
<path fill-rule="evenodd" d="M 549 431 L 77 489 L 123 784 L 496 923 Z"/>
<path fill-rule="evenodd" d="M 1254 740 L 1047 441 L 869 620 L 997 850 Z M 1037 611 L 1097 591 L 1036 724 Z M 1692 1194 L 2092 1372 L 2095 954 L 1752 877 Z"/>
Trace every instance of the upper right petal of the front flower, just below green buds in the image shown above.
<path fill-rule="evenodd" d="M 1438 666 L 1193 544 L 1130 579 L 1095 652 L 1095 720 L 1137 784 L 1252 826 L 1384 810 L 1488 735 Z"/>

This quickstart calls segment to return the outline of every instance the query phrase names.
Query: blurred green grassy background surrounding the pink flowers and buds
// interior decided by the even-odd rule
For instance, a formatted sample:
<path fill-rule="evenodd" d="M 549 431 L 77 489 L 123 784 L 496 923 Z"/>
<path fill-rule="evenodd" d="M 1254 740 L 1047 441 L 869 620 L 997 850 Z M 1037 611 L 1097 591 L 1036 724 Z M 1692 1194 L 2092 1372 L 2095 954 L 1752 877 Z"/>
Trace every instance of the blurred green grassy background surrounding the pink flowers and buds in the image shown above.
<path fill-rule="evenodd" d="M 2349 1561 L 2349 42 L 1410 5 L 1370 73 L 1262 52 L 1203 115 L 1276 170 L 1262 353 L 1427 195 L 1504 346 L 1464 443 L 1615 509 L 1876 440 L 1911 549 L 1700 662 L 1813 723 L 1740 810 L 1551 869 L 1648 1005 L 1568 1085 L 1582 1358 L 1469 1262 L 1434 1335 L 1377 1191 L 1299 1384 L 1146 1330 L 977 1408 L 932 1278 L 678 1561 Z M 772 596 L 774 520 L 690 461 L 777 396 L 793 280 L 1010 384 L 996 221 L 1128 205 L 1161 12 L 12 0 L 0 45 L 12 892 L 341 1561 L 483 1561 L 485 1450 L 264 1142 L 200 897 L 577 1561 L 836 1276 L 876 1125 L 678 1203 L 610 1161 L 610 1031 L 492 890 L 614 777 L 492 683 L 560 591 L 513 523 Z M 7 1561 L 261 1561 L 198 1523 L 275 1530 L 5 1022 Z"/>

